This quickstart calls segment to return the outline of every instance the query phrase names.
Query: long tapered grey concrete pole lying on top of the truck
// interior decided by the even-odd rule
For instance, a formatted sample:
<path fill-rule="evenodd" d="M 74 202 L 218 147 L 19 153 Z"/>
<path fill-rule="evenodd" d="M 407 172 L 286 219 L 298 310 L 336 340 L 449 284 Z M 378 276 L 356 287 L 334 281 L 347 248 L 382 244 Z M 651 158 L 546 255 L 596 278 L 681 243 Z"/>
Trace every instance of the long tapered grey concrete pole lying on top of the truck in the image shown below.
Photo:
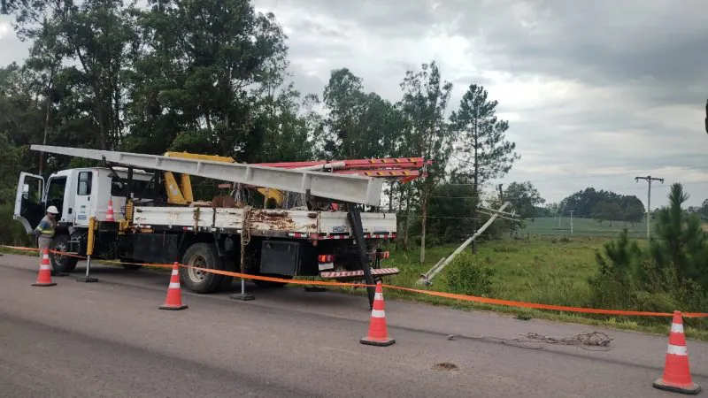
<path fill-rule="evenodd" d="M 275 188 L 300 194 L 305 194 L 309 189 L 310 195 L 343 202 L 364 203 L 372 206 L 381 204 L 383 180 L 370 177 L 282 169 L 261 165 L 182 159 L 179 157 L 164 157 L 112 150 L 54 147 L 49 145 L 32 145 L 30 149 L 70 157 L 105 160 L 109 163 L 142 169 L 180 172 L 213 180 Z"/>

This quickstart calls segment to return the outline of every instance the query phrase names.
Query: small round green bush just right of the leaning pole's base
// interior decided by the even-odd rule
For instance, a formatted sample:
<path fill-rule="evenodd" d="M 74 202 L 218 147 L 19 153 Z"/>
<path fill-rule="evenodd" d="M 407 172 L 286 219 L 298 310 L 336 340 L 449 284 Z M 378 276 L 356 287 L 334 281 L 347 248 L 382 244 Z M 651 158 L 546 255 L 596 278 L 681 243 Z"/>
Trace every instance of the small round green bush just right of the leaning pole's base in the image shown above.
<path fill-rule="evenodd" d="M 443 281 L 450 292 L 464 295 L 489 295 L 495 270 L 480 264 L 470 253 L 460 253 L 443 273 Z"/>

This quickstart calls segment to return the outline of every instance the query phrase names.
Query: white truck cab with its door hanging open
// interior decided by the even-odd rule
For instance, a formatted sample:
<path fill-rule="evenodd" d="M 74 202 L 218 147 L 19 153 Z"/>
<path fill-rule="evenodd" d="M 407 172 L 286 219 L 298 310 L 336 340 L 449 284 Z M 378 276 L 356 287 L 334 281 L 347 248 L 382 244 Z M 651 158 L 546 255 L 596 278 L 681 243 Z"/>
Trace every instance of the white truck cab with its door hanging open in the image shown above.
<path fill-rule="evenodd" d="M 115 175 L 119 178 L 115 178 Z M 135 170 L 135 183 L 147 186 L 152 174 Z M 108 202 L 112 200 L 113 217 L 123 217 L 127 189 L 121 179 L 127 179 L 127 169 L 114 167 L 90 167 L 67 169 L 55 172 L 48 180 L 40 175 L 21 172 L 15 197 L 14 218 L 25 227 L 27 233 L 39 224 L 49 206 L 59 210 L 58 225 L 68 227 L 88 227 L 89 218 L 104 221 Z"/>

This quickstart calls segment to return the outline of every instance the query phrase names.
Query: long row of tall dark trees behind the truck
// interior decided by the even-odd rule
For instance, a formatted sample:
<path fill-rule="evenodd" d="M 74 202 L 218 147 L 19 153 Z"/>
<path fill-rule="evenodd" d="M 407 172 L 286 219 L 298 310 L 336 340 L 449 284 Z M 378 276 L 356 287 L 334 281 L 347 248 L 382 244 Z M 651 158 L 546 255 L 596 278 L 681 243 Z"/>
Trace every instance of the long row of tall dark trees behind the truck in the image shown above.
<path fill-rule="evenodd" d="M 396 101 L 367 91 L 345 65 L 331 71 L 321 93 L 297 92 L 286 34 L 272 12 L 247 0 L 6 6 L 16 34 L 31 42 L 24 63 L 0 68 L 0 155 L 16 159 L 0 165 L 6 205 L 20 170 L 83 165 L 39 158 L 27 150 L 31 143 L 186 150 L 247 163 L 426 157 L 433 165 L 425 179 L 386 191 L 402 244 L 416 233 L 422 261 L 427 235 L 455 229 L 441 215 L 451 187 L 470 198 L 456 214 L 476 225 L 481 189 L 520 158 L 505 135 L 509 123 L 481 85 L 470 84 L 451 111 L 453 85 L 435 60 L 404 73 Z"/>

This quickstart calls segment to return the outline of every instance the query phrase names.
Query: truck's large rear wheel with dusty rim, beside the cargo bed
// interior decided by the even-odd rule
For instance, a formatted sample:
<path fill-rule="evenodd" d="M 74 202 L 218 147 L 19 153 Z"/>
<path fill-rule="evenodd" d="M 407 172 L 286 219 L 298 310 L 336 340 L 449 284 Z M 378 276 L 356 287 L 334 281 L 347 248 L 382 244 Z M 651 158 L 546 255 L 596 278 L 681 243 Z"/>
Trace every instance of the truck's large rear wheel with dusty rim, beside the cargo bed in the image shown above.
<path fill-rule="evenodd" d="M 224 262 L 219 258 L 213 243 L 196 243 L 190 246 L 182 257 L 182 264 L 224 270 Z M 194 293 L 211 293 L 219 289 L 223 279 L 223 275 L 216 273 L 180 268 L 180 283 Z"/>

